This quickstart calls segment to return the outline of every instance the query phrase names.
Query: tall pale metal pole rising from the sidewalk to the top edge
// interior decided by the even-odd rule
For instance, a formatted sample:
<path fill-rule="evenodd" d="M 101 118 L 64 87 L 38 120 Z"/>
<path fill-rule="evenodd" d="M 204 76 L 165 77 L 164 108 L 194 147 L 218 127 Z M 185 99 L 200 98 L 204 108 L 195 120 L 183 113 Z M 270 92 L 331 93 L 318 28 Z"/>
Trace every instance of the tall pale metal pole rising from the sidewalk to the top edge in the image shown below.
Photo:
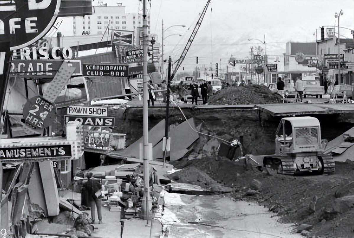
<path fill-rule="evenodd" d="M 146 216 L 149 223 L 149 213 L 152 207 L 149 186 L 149 129 L 148 129 L 148 24 L 146 19 L 146 1 L 143 0 L 143 162 L 144 162 L 144 197 L 142 198 L 142 217 Z"/>

